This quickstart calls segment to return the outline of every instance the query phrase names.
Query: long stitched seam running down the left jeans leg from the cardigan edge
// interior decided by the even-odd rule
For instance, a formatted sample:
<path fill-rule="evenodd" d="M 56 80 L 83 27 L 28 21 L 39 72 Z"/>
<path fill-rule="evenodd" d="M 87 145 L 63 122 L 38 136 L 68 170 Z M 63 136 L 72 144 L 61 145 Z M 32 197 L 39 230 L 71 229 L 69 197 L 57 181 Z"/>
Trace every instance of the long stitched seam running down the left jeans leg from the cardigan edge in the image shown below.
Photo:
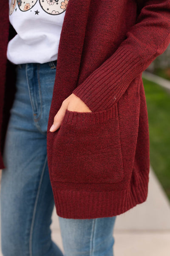
<path fill-rule="evenodd" d="M 29 239 L 30 256 L 33 256 L 33 252 L 32 252 L 32 234 L 33 234 L 33 229 L 34 229 L 34 221 L 35 221 L 35 214 L 36 214 L 36 210 L 37 210 L 37 203 L 38 203 L 38 199 L 39 199 L 39 195 L 40 195 L 40 188 L 41 188 L 42 178 L 43 178 L 43 175 L 44 175 L 44 172 L 45 172 L 46 164 L 47 164 L 47 155 L 45 157 L 45 162 L 44 162 L 44 165 L 43 165 L 43 168 L 42 168 L 40 182 L 39 182 L 39 186 L 38 186 L 38 190 L 37 190 L 37 196 L 36 196 L 36 200 L 35 200 L 35 204 L 34 204 L 34 210 L 33 210 L 32 222 L 31 222 L 31 229 L 30 229 L 30 239 Z"/>

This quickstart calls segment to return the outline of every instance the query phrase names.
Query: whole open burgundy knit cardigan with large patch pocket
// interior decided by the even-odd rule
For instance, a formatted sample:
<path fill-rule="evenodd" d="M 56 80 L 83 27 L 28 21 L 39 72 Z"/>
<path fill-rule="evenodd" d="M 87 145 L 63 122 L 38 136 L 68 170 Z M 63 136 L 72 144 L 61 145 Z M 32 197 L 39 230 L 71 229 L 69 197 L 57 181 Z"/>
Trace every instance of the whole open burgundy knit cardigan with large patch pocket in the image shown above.
<path fill-rule="evenodd" d="M 3 153 L 15 72 L 6 59 L 11 34 L 8 1 L 2 2 Z M 47 131 L 49 175 L 58 216 L 116 216 L 146 201 L 150 159 L 142 72 L 169 43 L 170 0 L 68 1 Z M 62 101 L 71 93 L 92 112 L 66 110 L 59 129 L 49 132 Z M 1 156 L 0 167 L 5 171 Z"/>

